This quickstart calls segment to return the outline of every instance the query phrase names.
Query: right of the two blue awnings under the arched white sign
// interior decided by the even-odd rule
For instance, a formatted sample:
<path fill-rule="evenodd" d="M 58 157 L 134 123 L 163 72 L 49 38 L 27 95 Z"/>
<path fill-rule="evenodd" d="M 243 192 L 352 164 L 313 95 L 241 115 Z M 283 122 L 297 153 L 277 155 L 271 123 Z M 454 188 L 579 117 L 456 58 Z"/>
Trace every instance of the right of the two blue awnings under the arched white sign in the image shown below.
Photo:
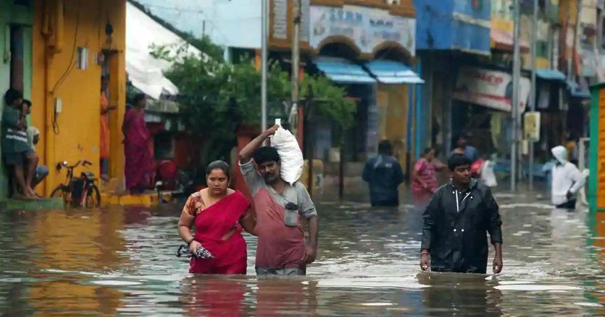
<path fill-rule="evenodd" d="M 373 60 L 365 63 L 368 71 L 378 82 L 385 84 L 422 84 L 424 80 L 403 63 L 388 60 Z"/>

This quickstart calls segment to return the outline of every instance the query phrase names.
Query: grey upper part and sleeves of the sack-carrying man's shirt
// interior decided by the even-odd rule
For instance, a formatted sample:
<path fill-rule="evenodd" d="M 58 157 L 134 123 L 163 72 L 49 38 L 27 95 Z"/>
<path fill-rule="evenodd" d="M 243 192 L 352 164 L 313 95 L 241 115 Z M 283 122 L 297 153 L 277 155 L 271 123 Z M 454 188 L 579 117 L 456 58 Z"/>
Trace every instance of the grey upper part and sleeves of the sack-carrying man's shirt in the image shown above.
<path fill-rule="evenodd" d="M 261 188 L 265 188 L 269 191 L 273 200 L 282 207 L 285 208 L 286 204 L 289 202 L 296 203 L 296 205 L 298 205 L 298 213 L 301 216 L 306 219 L 317 216 L 315 204 L 313 203 L 313 200 L 311 200 L 307 188 L 305 188 L 301 182 L 295 182 L 294 185 L 286 184 L 284 193 L 280 194 L 264 181 L 263 176 L 258 173 L 252 159 L 245 164 L 240 164 L 240 170 L 252 197 L 254 197 Z"/>

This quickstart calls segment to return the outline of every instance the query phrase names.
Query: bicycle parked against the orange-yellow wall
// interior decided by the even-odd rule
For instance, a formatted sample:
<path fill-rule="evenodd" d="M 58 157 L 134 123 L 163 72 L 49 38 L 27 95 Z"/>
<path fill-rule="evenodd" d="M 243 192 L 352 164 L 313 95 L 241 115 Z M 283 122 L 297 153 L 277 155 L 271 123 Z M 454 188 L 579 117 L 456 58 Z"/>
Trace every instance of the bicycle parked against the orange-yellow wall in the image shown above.
<path fill-rule="evenodd" d="M 85 159 L 78 161 L 75 165 L 68 165 L 67 161 L 57 163 L 57 171 L 60 171 L 61 168 L 67 170 L 67 185 L 60 184 L 54 188 L 50 197 L 62 198 L 65 204 L 71 207 L 100 207 L 101 194 L 97 185 L 94 184 L 97 180 L 94 178 L 94 173 L 83 171 L 80 173 L 79 178 L 74 178 L 74 168 L 80 164 L 82 166 L 93 165 L 93 163 Z"/>

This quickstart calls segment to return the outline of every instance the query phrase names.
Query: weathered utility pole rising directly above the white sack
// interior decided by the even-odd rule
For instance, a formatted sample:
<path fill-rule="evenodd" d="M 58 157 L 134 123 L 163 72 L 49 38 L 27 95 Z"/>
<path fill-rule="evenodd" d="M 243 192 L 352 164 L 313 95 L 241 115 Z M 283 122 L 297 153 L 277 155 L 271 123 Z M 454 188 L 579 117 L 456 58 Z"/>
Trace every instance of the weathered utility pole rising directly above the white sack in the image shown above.
<path fill-rule="evenodd" d="M 290 108 L 290 131 L 298 135 L 298 72 L 300 68 L 301 0 L 292 1 L 292 103 Z"/>

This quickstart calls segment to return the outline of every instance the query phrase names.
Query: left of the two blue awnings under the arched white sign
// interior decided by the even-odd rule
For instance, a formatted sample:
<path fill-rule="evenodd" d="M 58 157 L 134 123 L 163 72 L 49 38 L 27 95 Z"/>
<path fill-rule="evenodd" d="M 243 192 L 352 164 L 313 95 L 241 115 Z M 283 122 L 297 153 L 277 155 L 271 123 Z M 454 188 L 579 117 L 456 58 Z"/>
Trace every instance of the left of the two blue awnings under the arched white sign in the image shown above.
<path fill-rule="evenodd" d="M 370 76 L 364 69 L 346 59 L 338 57 L 318 57 L 315 64 L 320 71 L 335 83 L 343 84 L 371 84 L 376 79 Z"/>

